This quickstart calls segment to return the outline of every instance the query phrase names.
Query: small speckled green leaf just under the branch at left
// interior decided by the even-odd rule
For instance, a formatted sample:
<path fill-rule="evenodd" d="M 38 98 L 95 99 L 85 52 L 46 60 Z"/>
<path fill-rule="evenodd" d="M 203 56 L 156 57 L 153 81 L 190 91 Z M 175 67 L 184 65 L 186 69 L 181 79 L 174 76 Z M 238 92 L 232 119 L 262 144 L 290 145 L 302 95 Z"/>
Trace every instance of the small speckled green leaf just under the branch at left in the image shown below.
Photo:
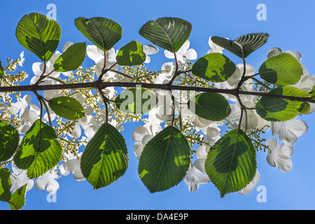
<path fill-rule="evenodd" d="M 48 105 L 57 116 L 67 120 L 78 120 L 85 116 L 80 102 L 72 97 L 55 97 L 49 100 Z"/>

